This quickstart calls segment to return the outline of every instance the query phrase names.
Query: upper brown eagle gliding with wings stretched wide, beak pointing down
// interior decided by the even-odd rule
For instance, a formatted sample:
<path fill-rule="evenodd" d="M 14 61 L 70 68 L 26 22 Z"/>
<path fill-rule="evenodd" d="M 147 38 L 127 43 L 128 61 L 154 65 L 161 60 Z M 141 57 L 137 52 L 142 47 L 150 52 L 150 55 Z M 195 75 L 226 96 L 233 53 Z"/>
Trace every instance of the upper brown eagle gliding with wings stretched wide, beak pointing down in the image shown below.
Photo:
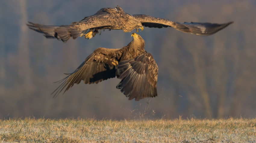
<path fill-rule="evenodd" d="M 101 8 L 92 16 L 85 17 L 79 22 L 72 22 L 71 25 L 48 26 L 29 22 L 27 26 L 34 31 L 44 34 L 46 38 L 57 38 L 63 42 L 73 37 L 84 36 L 91 39 L 95 34 L 105 29 L 120 29 L 123 32 L 131 32 L 133 29 L 145 27 L 173 27 L 185 33 L 207 36 L 216 33 L 233 22 L 224 24 L 198 23 L 198 22 L 172 22 L 168 19 L 152 17 L 144 14 L 130 15 L 125 13 L 121 7 Z"/>

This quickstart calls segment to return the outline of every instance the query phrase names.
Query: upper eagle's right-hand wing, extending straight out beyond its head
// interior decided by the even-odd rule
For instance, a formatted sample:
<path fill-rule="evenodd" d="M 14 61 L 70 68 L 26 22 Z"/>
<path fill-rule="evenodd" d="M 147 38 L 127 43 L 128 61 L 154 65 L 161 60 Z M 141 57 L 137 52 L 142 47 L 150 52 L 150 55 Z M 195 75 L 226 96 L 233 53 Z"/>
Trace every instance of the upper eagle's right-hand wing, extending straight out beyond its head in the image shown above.
<path fill-rule="evenodd" d="M 227 22 L 224 24 L 217 23 L 198 23 L 198 22 L 172 22 L 168 19 L 157 18 L 148 16 L 145 14 L 135 14 L 133 17 L 139 20 L 143 26 L 145 27 L 154 27 L 154 28 L 162 28 L 162 27 L 173 27 L 179 31 L 185 33 L 196 34 L 200 36 L 207 36 L 220 31 L 221 29 L 227 27 L 229 24 L 233 22 Z"/>

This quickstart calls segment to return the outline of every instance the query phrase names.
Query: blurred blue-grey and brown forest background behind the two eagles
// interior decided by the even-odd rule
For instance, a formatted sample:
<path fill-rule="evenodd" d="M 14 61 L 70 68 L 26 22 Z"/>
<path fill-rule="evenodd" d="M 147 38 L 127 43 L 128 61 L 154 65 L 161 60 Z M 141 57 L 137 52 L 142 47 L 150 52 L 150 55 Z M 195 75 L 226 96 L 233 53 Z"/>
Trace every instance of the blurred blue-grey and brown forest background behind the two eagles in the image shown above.
<path fill-rule="evenodd" d="M 119 79 L 80 83 L 53 99 L 55 81 L 73 72 L 98 47 L 121 48 L 131 33 L 102 32 L 63 43 L 28 29 L 27 21 L 68 25 L 103 7 L 176 22 L 234 21 L 211 36 L 174 28 L 144 28 L 145 49 L 159 67 L 158 97 L 128 101 Z M 0 1 L 0 118 L 225 118 L 256 117 L 256 1 Z"/>

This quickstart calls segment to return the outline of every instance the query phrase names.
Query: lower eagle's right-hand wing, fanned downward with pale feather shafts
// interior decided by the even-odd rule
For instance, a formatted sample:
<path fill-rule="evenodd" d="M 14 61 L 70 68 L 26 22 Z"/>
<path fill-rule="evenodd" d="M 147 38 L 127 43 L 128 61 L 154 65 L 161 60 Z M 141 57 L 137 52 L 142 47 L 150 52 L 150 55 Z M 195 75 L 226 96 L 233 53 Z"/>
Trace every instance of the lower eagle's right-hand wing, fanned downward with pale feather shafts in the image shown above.
<path fill-rule="evenodd" d="M 153 56 L 145 53 L 131 60 L 121 61 L 117 65 L 121 82 L 117 89 L 121 89 L 129 100 L 136 101 L 145 97 L 157 96 L 158 66 Z"/>

